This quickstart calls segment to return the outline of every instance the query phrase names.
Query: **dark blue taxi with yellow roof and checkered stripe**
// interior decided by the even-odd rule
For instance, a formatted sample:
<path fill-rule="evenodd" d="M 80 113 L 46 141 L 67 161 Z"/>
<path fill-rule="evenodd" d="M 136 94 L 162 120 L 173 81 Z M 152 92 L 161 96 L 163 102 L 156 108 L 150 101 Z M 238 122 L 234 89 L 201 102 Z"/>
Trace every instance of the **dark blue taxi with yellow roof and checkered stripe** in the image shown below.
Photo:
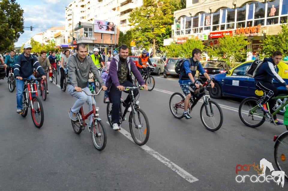
<path fill-rule="evenodd" d="M 253 60 L 243 62 L 238 66 L 235 66 L 231 70 L 222 73 L 211 75 L 210 78 L 214 78 L 214 88 L 209 89 L 209 94 L 212 98 L 221 98 L 222 95 L 232 96 L 237 98 L 247 98 L 247 97 L 258 97 L 255 94 L 254 78 L 250 78 L 245 75 L 247 68 L 252 64 Z M 288 61 L 281 61 L 276 68 L 276 72 L 280 75 L 283 80 L 288 83 Z M 279 84 L 277 81 L 273 80 L 273 84 L 278 89 L 277 96 L 286 96 L 288 91 L 284 86 Z M 277 100 L 276 104 L 281 105 L 285 101 Z M 280 111 L 283 114 L 285 108 Z"/>

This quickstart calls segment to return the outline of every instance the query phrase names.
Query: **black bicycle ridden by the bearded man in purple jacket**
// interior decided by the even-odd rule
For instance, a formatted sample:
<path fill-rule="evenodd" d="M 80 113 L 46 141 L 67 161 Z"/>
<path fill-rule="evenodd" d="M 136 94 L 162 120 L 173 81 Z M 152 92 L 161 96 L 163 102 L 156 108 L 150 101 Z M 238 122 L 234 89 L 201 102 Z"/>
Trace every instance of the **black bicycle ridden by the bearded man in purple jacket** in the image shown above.
<path fill-rule="evenodd" d="M 149 126 L 148 117 L 146 116 L 144 111 L 140 109 L 139 101 L 134 96 L 134 93 L 133 93 L 134 89 L 144 90 L 143 87 L 125 87 L 125 91 L 129 92 L 129 96 L 131 97 L 132 101 L 131 101 L 131 104 L 128 104 L 125 107 L 124 112 L 123 112 L 122 107 L 121 107 L 123 100 L 121 100 L 121 104 L 119 108 L 119 120 L 120 120 L 120 124 L 122 124 L 122 122 L 126 120 L 126 113 L 128 111 L 128 108 L 131 107 L 132 110 L 129 115 L 129 128 L 130 128 L 131 137 L 137 145 L 141 146 L 141 145 L 145 145 L 149 139 L 150 126 Z M 107 118 L 108 118 L 108 122 L 111 128 L 113 128 L 111 110 L 112 110 L 112 103 L 109 102 L 107 104 Z M 121 129 L 121 125 L 120 125 L 120 129 Z"/>

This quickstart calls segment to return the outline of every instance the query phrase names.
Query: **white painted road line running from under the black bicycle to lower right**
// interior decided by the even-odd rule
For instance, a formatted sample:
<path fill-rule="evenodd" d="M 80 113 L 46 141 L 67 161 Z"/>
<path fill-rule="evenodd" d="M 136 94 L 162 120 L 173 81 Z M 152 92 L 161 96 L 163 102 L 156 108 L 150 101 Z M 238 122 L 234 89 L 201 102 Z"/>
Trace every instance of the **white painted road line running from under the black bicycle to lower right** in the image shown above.
<path fill-rule="evenodd" d="M 109 124 L 109 122 L 107 121 L 107 123 Z M 109 124 L 110 125 L 110 124 Z M 119 131 L 121 134 L 123 134 L 125 137 L 127 137 L 129 140 L 131 140 L 133 143 L 133 139 L 131 137 L 131 134 L 126 131 L 125 129 L 121 129 Z M 154 151 L 152 148 L 150 148 L 147 145 L 143 145 L 143 146 L 139 146 L 140 148 L 142 148 L 144 151 L 146 151 L 147 153 L 151 154 L 153 157 L 155 157 L 157 160 L 159 160 L 161 163 L 165 164 L 166 166 L 168 166 L 171 170 L 173 170 L 174 172 L 176 172 L 177 174 L 179 174 L 182 178 L 184 178 L 186 181 L 192 183 L 195 181 L 199 181 L 197 178 L 195 178 L 193 175 L 189 174 L 187 171 L 185 171 L 184 169 L 182 169 L 180 166 L 176 165 L 175 163 L 173 163 L 172 161 L 170 161 L 169 159 L 167 159 L 166 157 L 162 156 L 161 154 L 159 154 L 158 152 Z"/>

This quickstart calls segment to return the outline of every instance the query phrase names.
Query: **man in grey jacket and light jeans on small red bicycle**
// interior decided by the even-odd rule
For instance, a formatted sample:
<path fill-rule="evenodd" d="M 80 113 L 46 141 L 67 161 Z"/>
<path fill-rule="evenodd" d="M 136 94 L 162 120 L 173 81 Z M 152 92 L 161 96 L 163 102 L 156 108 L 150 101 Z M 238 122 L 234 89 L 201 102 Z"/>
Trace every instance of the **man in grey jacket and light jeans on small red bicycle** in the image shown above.
<path fill-rule="evenodd" d="M 88 85 L 89 71 L 95 75 L 96 79 L 99 81 L 100 86 L 103 90 L 107 90 L 104 82 L 99 75 L 97 67 L 94 65 L 91 57 L 87 56 L 87 48 L 84 44 L 80 43 L 76 48 L 76 54 L 70 56 L 67 60 L 68 69 L 68 81 L 67 89 L 70 94 L 77 99 L 71 110 L 69 111 L 69 116 L 71 120 L 77 121 L 76 113 L 82 105 L 87 102 L 89 105 L 89 111 L 92 111 L 92 99 L 91 96 L 87 96 L 85 92 L 90 92 Z M 92 123 L 92 117 L 89 116 L 88 126 L 90 127 Z"/>

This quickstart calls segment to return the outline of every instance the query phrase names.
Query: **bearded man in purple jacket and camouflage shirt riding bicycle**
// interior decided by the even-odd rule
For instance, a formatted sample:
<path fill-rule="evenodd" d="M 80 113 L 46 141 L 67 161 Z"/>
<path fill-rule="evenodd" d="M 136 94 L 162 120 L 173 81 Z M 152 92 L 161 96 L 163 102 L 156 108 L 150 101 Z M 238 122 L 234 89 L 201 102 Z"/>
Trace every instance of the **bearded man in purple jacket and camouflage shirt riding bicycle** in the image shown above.
<path fill-rule="evenodd" d="M 137 70 L 132 59 L 128 57 L 129 49 L 128 46 L 123 44 L 119 47 L 119 54 L 114 56 L 110 62 L 110 71 L 108 73 L 108 77 L 106 80 L 107 91 L 109 92 L 110 101 L 112 102 L 112 123 L 113 130 L 118 131 L 120 121 L 119 121 L 119 106 L 122 91 L 124 91 L 124 87 L 134 87 L 131 72 L 134 74 L 135 78 L 141 84 L 141 86 L 148 90 L 148 87 L 145 85 L 145 82 Z M 135 89 L 134 95 L 138 95 L 138 90 Z M 125 92 L 128 93 L 128 92 Z M 128 95 L 124 101 L 124 107 L 131 103 L 131 98 Z M 132 108 L 128 109 L 128 112 L 131 112 Z"/>

